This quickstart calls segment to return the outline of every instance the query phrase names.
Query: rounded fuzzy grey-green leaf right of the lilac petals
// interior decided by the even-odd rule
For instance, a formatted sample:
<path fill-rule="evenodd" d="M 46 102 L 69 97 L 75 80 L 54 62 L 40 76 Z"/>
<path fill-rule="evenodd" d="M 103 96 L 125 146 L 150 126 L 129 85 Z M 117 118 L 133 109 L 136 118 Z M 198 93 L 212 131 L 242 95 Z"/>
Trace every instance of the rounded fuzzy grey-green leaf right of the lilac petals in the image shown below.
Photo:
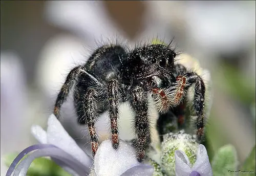
<path fill-rule="evenodd" d="M 238 159 L 237 151 L 232 145 L 221 147 L 214 156 L 211 163 L 214 175 L 232 175 L 230 171 L 237 170 Z"/>

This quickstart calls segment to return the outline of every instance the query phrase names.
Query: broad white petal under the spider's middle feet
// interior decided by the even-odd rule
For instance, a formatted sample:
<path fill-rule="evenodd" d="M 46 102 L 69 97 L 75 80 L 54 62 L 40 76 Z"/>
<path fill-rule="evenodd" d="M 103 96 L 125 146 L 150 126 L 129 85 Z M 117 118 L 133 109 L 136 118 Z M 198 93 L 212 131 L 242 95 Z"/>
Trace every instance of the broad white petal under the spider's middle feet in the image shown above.
<path fill-rule="evenodd" d="M 103 141 L 94 159 L 94 169 L 97 176 L 121 175 L 136 165 L 142 165 L 142 163 L 137 161 L 134 148 L 122 140 L 119 141 L 118 149 L 112 147 L 111 140 Z"/>

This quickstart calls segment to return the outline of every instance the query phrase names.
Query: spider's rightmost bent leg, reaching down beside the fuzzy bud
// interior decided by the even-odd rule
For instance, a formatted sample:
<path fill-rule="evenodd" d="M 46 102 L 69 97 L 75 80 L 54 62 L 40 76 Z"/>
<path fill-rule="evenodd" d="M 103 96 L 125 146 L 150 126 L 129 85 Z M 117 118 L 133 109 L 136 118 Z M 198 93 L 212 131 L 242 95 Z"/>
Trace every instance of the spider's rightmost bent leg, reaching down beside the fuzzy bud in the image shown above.
<path fill-rule="evenodd" d="M 202 78 L 196 73 L 186 73 L 184 74 L 186 77 L 186 89 L 191 84 L 195 84 L 195 95 L 193 106 L 196 111 L 197 121 L 196 121 L 196 128 L 197 128 L 197 139 L 199 141 L 202 140 L 204 135 L 204 125 L 205 125 L 205 118 L 204 118 L 204 100 L 205 100 L 205 85 Z"/>

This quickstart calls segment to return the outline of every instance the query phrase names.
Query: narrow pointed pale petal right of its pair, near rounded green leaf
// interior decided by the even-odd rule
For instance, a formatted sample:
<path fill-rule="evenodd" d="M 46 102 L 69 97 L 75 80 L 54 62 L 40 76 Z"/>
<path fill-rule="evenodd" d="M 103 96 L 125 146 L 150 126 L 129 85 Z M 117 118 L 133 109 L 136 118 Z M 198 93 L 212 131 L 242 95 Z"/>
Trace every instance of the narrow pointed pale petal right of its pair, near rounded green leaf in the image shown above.
<path fill-rule="evenodd" d="M 209 162 L 207 150 L 204 145 L 200 144 L 197 152 L 197 161 L 192 170 L 196 170 L 201 176 L 213 175 Z"/>

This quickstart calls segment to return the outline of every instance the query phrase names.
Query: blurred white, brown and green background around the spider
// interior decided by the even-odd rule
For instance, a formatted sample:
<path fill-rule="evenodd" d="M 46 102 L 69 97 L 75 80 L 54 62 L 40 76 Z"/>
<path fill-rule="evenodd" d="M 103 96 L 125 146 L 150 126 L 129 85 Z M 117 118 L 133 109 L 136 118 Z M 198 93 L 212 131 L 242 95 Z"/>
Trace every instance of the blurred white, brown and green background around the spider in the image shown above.
<path fill-rule="evenodd" d="M 1 1 L 1 175 L 4 155 L 37 143 L 30 127 L 47 126 L 69 71 L 116 36 L 129 43 L 175 37 L 180 51 L 197 58 L 214 90 L 207 138 L 214 151 L 233 144 L 244 162 L 255 145 L 255 1 Z M 72 101 L 61 115 L 84 147 L 86 128 Z"/>

